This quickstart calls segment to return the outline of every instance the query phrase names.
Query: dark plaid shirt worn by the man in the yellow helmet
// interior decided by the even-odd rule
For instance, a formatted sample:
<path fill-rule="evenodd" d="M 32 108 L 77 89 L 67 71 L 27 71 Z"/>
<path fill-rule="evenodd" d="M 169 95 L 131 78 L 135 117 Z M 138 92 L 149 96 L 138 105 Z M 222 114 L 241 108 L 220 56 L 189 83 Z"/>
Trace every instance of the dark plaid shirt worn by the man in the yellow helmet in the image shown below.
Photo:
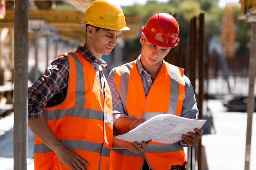
<path fill-rule="evenodd" d="M 76 52 L 81 53 L 88 60 L 99 79 L 99 84 L 105 96 L 104 75 L 102 69 L 107 71 L 107 63 L 97 60 L 90 51 L 79 46 Z M 35 119 L 43 115 L 44 107 L 52 107 L 64 101 L 67 95 L 68 85 L 68 59 L 67 57 L 56 58 L 28 90 L 29 119 Z"/>

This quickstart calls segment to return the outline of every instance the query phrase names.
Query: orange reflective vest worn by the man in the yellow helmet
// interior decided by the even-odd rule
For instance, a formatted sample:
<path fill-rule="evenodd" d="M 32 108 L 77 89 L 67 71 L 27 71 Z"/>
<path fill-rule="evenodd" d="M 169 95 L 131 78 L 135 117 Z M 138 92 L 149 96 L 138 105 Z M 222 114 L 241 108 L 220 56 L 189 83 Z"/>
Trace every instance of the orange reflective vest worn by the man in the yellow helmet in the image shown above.
<path fill-rule="evenodd" d="M 88 170 L 108 170 L 112 148 L 112 97 L 105 79 L 105 98 L 94 68 L 78 52 L 68 57 L 69 79 L 65 101 L 44 108 L 47 124 L 65 148 L 90 163 Z M 35 170 L 69 170 L 56 154 L 35 137 Z"/>

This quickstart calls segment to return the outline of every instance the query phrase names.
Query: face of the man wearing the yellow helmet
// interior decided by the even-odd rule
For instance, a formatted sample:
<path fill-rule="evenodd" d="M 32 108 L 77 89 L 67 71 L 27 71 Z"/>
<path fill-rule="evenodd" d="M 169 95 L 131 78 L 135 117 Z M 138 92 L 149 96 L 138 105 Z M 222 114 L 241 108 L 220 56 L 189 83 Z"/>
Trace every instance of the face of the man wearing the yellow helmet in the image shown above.
<path fill-rule="evenodd" d="M 122 31 L 112 31 L 108 29 L 99 29 L 96 31 L 95 26 L 88 26 L 88 43 L 86 48 L 98 59 L 101 55 L 109 55 L 117 44 L 118 38 Z"/>

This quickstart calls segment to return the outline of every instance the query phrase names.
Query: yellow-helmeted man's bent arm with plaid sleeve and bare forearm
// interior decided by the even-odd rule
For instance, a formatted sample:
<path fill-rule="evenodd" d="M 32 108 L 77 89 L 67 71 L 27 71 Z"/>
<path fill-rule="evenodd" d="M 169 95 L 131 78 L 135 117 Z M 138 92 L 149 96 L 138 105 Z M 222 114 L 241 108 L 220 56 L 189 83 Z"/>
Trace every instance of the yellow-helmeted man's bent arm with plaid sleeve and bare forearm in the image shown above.
<path fill-rule="evenodd" d="M 43 108 L 46 106 L 47 101 L 66 88 L 67 77 L 68 60 L 66 57 L 59 57 L 49 65 L 45 74 L 38 78 L 29 88 L 28 126 L 47 147 L 56 153 L 58 159 L 71 170 L 78 169 L 79 167 L 85 170 L 83 164 L 85 166 L 89 166 L 89 164 L 74 152 L 65 149 L 49 128 L 45 116 L 43 115 Z"/>

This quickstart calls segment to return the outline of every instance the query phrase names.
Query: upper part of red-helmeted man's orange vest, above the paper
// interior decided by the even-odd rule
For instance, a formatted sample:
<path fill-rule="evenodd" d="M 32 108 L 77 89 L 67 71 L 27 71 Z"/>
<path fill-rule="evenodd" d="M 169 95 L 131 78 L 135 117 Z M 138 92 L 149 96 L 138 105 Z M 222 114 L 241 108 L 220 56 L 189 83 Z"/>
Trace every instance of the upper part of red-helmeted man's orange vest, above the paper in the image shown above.
<path fill-rule="evenodd" d="M 124 112 L 128 114 L 129 117 L 140 118 L 142 117 L 142 113 L 159 112 L 155 110 L 161 108 L 163 113 L 180 115 L 184 98 L 184 70 L 164 62 L 146 99 L 144 87 L 135 63 L 136 60 L 126 65 L 119 66 L 116 69 L 115 84 L 124 106 Z M 122 88 L 119 88 L 120 86 Z M 131 89 L 130 93 L 128 93 L 128 89 Z M 129 96 L 134 94 L 136 94 L 136 97 L 133 99 L 133 102 L 127 102 Z M 153 105 L 149 104 L 149 102 L 145 103 L 146 100 L 149 100 L 148 98 L 151 99 L 152 97 L 154 101 L 161 101 L 157 104 L 158 107 L 154 106 L 155 103 L 153 103 Z M 135 104 L 139 105 L 139 108 L 134 107 Z M 141 115 L 137 115 L 138 112 L 141 113 Z"/>

